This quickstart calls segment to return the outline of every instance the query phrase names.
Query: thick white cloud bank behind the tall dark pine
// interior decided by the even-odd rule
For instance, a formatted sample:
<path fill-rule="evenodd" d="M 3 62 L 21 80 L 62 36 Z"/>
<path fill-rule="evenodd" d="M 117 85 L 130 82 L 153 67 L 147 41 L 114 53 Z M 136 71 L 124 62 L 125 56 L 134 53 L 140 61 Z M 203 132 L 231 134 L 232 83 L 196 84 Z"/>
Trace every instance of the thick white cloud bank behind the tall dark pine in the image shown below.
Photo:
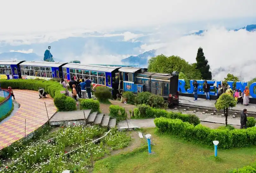
<path fill-rule="evenodd" d="M 172 34 L 175 33 L 169 33 Z M 194 63 L 198 47 L 202 47 L 215 79 L 222 80 L 229 72 L 245 81 L 256 77 L 256 31 L 210 28 L 202 36 L 178 36 L 161 41 L 161 44 L 143 45 L 141 48 L 158 48 L 156 54 L 177 55 Z"/>

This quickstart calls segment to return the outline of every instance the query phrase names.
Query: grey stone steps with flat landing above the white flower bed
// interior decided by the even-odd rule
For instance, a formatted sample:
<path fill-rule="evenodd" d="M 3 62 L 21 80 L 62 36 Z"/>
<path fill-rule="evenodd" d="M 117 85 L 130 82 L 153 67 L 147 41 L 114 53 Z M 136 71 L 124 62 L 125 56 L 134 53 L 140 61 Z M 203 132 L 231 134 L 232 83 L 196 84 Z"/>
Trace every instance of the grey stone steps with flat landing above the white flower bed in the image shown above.
<path fill-rule="evenodd" d="M 103 127 L 114 128 L 116 126 L 116 118 L 111 118 L 105 114 L 92 112 L 87 110 L 76 110 L 69 112 L 57 112 L 50 119 L 50 125 L 69 125 L 73 123 L 83 124 L 99 124 Z"/>

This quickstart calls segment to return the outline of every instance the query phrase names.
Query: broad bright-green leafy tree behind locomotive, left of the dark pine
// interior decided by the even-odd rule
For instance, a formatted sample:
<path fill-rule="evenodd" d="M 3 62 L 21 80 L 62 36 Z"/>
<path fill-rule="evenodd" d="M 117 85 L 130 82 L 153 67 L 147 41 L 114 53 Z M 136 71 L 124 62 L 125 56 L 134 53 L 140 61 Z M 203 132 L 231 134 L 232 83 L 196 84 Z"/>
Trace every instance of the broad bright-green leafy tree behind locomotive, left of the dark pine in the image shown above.
<path fill-rule="evenodd" d="M 189 64 L 179 56 L 165 56 L 163 54 L 149 59 L 148 71 L 157 73 L 182 72 L 186 79 L 201 79 L 201 74 L 195 69 L 195 65 Z"/>

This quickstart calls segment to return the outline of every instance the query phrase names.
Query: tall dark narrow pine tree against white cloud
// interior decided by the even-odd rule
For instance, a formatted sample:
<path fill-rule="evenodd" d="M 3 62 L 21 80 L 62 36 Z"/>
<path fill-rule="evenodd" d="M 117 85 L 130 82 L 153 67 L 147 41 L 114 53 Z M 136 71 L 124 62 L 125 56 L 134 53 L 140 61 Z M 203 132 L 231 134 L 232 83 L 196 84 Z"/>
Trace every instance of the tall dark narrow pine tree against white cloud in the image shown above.
<path fill-rule="evenodd" d="M 203 79 L 211 80 L 212 76 L 211 76 L 211 72 L 209 71 L 210 65 L 208 64 L 208 60 L 205 59 L 202 47 L 198 48 L 196 60 L 197 60 L 197 63 L 196 63 L 197 69 L 202 74 Z"/>

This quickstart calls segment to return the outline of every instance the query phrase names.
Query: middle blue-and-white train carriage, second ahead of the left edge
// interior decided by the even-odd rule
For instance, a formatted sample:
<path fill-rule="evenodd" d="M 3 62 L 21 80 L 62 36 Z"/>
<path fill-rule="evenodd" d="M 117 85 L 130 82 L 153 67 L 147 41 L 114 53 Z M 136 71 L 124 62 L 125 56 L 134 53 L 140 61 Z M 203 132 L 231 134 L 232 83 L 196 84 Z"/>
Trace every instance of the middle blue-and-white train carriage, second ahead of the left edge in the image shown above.
<path fill-rule="evenodd" d="M 20 64 L 22 79 L 62 78 L 62 66 L 67 63 L 46 61 L 25 61 Z"/>

